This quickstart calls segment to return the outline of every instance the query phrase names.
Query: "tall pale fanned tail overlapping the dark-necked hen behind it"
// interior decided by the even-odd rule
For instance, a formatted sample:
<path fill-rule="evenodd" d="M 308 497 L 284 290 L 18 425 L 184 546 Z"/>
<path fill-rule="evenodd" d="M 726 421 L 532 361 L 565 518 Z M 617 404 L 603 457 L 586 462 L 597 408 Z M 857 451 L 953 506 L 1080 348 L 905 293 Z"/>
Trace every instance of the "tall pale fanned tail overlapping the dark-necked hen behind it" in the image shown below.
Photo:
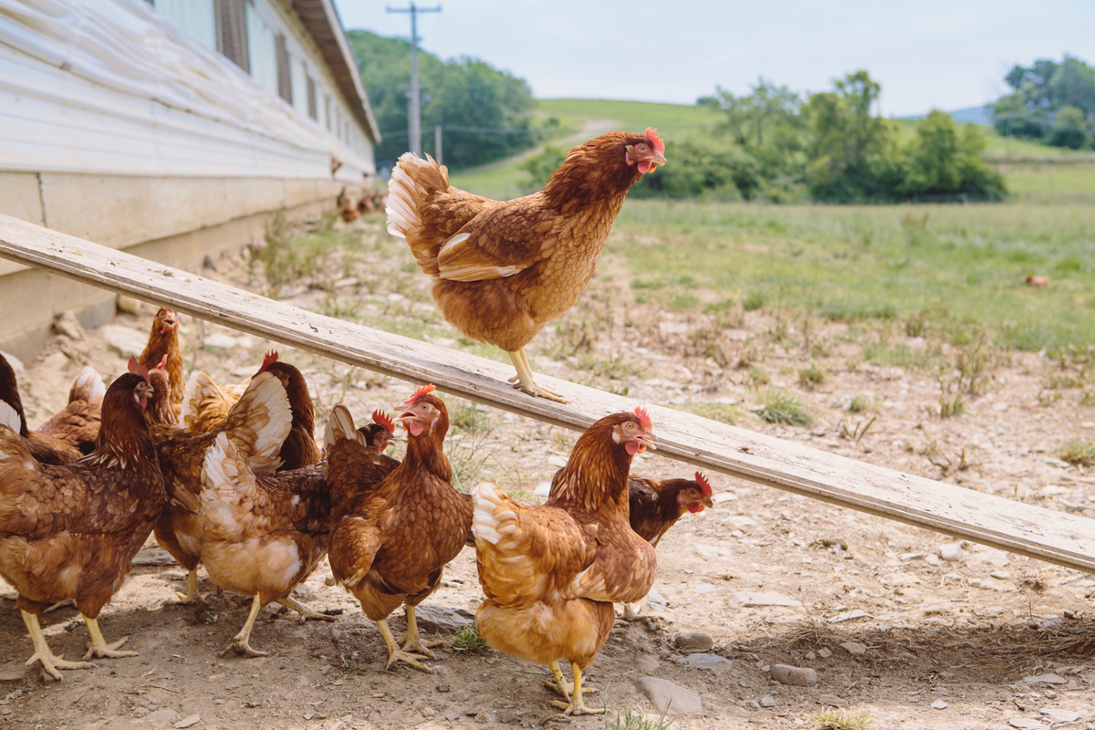
<path fill-rule="evenodd" d="M 228 413 L 221 432 L 230 438 L 255 474 L 273 474 L 281 465 L 278 454 L 292 427 L 289 396 L 277 376 L 256 375 Z"/>

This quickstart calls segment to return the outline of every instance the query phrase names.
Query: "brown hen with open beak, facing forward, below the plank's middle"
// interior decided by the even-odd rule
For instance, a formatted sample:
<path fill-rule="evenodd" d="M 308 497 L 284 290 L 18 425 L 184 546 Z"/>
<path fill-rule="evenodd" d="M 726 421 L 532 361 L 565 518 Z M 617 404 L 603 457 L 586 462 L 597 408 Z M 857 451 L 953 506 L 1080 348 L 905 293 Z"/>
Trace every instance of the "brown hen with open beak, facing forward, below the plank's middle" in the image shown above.
<path fill-rule="evenodd" d="M 433 670 L 413 654 L 434 654 L 418 635 L 415 606 L 437 589 L 442 569 L 468 541 L 472 521 L 471 500 L 450 484 L 452 468 L 441 450 L 449 416 L 433 391 L 424 385 L 403 402 L 399 420 L 407 429 L 407 450 L 390 470 L 388 457 L 362 443 L 353 421 L 327 438 L 336 520 L 331 571 L 380 627 L 387 667 L 402 661 L 424 672 Z M 401 604 L 407 616 L 402 648 L 388 627 L 388 616 Z"/>

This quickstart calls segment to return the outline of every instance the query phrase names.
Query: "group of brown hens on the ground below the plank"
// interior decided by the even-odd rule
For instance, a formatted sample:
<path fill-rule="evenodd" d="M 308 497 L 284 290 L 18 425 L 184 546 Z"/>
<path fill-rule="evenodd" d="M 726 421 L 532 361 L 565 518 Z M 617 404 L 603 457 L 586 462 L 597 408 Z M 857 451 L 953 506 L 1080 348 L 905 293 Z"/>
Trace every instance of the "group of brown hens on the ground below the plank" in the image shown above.
<path fill-rule="evenodd" d="M 333 616 L 292 598 L 324 555 L 335 580 L 377 623 L 388 667 L 429 672 L 433 659 L 414 607 L 441 571 L 473 544 L 486 600 L 479 630 L 493 646 L 549 664 L 570 712 L 581 700 L 581 670 L 608 638 L 613 602 L 648 591 L 653 545 L 685 511 L 711 506 L 711 486 L 630 474 L 655 437 L 646 412 L 608 416 L 577 441 L 543 506 L 525 506 L 493 484 L 457 491 L 445 456 L 449 428 L 433 385 L 417 389 L 393 419 L 382 410 L 357 428 L 334 407 L 322 443 L 300 371 L 267 354 L 250 381 L 217 385 L 195 372 L 183 383 L 178 318 L 161 309 L 148 346 L 108 389 L 91 368 L 69 404 L 28 431 L 15 374 L 0 358 L 0 576 L 45 672 L 128 657 L 107 644 L 96 618 L 122 587 L 149 533 L 189 571 L 183 602 L 201 602 L 197 567 L 217 586 L 252 596 L 228 649 L 256 657 L 251 628 L 262 606 L 283 603 L 301 621 Z M 406 429 L 402 462 L 385 455 L 395 424 Z M 83 661 L 54 654 L 38 617 L 72 600 L 90 635 Z M 388 616 L 406 606 L 402 646 Z M 227 650 L 228 650 L 227 649 Z M 227 651 L 226 650 L 226 651 Z M 573 664 L 567 683 L 560 659 Z"/>

